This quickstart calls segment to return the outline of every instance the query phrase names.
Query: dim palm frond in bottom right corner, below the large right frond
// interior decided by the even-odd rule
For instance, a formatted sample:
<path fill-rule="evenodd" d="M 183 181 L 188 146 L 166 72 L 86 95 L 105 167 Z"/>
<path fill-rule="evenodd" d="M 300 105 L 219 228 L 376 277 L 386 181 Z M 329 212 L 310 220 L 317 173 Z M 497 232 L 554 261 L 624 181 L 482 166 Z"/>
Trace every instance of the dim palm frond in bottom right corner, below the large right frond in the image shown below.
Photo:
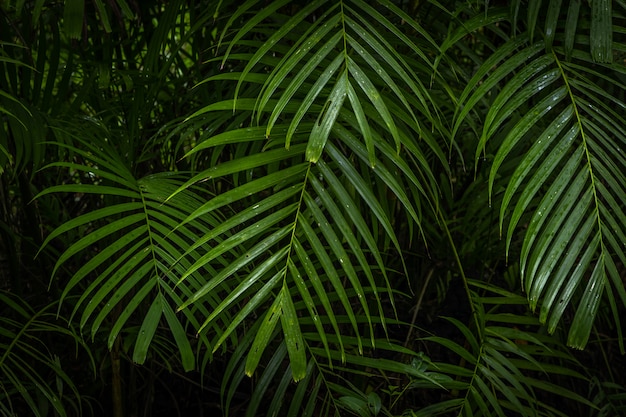
<path fill-rule="evenodd" d="M 463 335 L 463 342 L 451 338 L 431 336 L 429 342 L 454 352 L 458 364 L 427 362 L 428 370 L 448 375 L 439 383 L 450 390 L 441 402 L 414 412 L 416 416 L 440 415 L 455 412 L 458 415 L 498 415 L 517 413 L 523 416 L 565 416 L 541 401 L 539 392 L 561 396 L 595 408 L 583 396 L 549 382 L 546 375 L 568 375 L 584 379 L 571 370 L 573 358 L 558 344 L 542 334 L 536 318 L 507 312 L 513 305 L 526 303 L 523 297 L 479 281 L 470 281 L 476 311 L 484 328 L 482 341 L 475 331 L 459 320 L 448 318 Z M 487 310 L 488 308 L 488 310 Z M 433 388 L 427 381 L 413 382 L 411 388 Z"/>

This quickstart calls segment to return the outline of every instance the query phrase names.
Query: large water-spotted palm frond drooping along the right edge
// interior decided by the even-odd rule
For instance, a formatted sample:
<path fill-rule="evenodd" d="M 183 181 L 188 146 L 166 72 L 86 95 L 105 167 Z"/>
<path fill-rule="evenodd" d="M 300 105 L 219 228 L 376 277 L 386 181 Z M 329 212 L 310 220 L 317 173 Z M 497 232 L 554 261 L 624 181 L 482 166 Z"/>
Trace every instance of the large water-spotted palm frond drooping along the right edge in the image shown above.
<path fill-rule="evenodd" d="M 592 50 L 604 37 L 592 38 Z M 605 54 L 599 59 L 579 45 L 568 62 L 556 40 L 549 52 L 542 52 L 543 43 L 520 40 L 509 41 L 479 69 L 464 93 L 467 108 L 460 117 L 485 98 L 494 82 L 510 77 L 491 104 L 476 150 L 478 157 L 494 142 L 491 193 L 502 163 L 522 156 L 500 208 L 501 229 L 510 216 L 507 252 L 525 219 L 520 268 L 531 308 L 541 307 L 540 320 L 553 332 L 565 309 L 577 305 L 568 344 L 583 348 L 604 295 L 621 340 L 616 303 L 626 305 L 619 272 L 626 260 L 620 198 L 626 191 L 621 152 L 626 120 L 615 110 L 624 103 L 612 92 L 624 88 L 619 81 L 623 68 L 597 63 Z M 476 87 L 496 62 L 501 64 L 485 85 Z"/>

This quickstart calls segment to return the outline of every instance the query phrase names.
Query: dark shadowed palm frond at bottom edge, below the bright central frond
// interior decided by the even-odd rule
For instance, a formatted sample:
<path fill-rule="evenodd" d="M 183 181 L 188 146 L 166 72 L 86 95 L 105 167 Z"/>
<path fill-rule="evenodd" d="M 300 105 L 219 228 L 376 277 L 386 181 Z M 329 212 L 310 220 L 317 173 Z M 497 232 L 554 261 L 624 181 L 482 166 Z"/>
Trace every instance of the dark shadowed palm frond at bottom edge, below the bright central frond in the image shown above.
<path fill-rule="evenodd" d="M 303 309 L 302 303 L 296 308 Z M 329 317 L 319 318 L 323 323 L 329 322 Z M 337 316 L 340 323 L 348 323 L 347 316 Z M 303 320 L 309 323 L 310 319 Z M 363 322 L 365 324 L 365 322 Z M 240 345 L 230 357 L 227 371 L 224 374 L 223 408 L 230 410 L 237 387 L 245 378 L 245 356 L 243 353 L 252 343 L 256 329 L 248 333 L 242 339 Z M 278 330 L 275 330 L 277 333 Z M 276 415 L 315 415 L 314 410 L 322 411 L 325 415 L 340 414 L 346 412 L 360 416 L 390 414 L 391 410 L 381 403 L 381 398 L 375 392 L 366 393 L 365 390 L 372 384 L 393 385 L 410 378 L 412 381 L 423 381 L 433 387 L 442 387 L 438 379 L 443 375 L 433 372 L 425 372 L 425 369 L 416 366 L 419 356 L 409 349 L 390 342 L 386 339 L 363 340 L 363 348 L 370 353 L 376 352 L 377 358 L 360 354 L 356 337 L 342 335 L 342 344 L 347 354 L 340 352 L 338 337 L 327 335 L 330 351 L 322 347 L 322 340 L 318 333 L 304 333 L 307 342 L 310 360 L 307 364 L 306 376 L 297 385 L 290 384 L 292 381 L 291 361 L 287 362 L 288 356 L 286 341 L 278 342 L 272 349 L 267 360 L 261 366 L 258 378 L 255 378 L 255 389 L 250 396 L 249 404 L 246 405 L 246 415 L 257 415 L 261 407 Z M 376 346 L 376 348 L 374 348 Z M 334 359 L 328 361 L 328 356 Z M 344 356 L 344 359 L 341 359 Z M 401 358 L 401 359 L 400 359 Z M 334 363 L 334 365 L 333 365 Z M 368 369 L 368 371 L 364 371 Z M 354 378 L 362 379 L 359 386 L 350 381 Z M 445 376 L 443 376 L 445 377 Z M 270 386 L 277 387 L 273 392 L 271 401 L 267 398 L 267 389 Z M 318 411 L 319 412 L 319 411 Z M 228 415 L 228 413 L 227 413 Z"/>

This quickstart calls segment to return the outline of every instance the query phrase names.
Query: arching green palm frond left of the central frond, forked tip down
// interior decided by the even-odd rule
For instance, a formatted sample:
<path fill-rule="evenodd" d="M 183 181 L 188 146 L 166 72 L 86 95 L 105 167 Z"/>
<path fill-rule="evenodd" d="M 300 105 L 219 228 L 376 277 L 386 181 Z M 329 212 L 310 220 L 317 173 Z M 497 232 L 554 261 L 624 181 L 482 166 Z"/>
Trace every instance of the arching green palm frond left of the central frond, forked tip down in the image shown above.
<path fill-rule="evenodd" d="M 146 360 L 157 328 L 165 323 L 184 368 L 194 369 L 195 353 L 187 336 L 187 322 L 175 314 L 175 307 L 182 303 L 181 295 L 188 297 L 192 291 L 186 285 L 176 288 L 176 277 L 190 266 L 188 261 L 179 262 L 179 258 L 196 236 L 206 233 L 217 220 L 204 217 L 208 220 L 178 227 L 201 200 L 187 191 L 166 201 L 182 184 L 176 175 L 156 174 L 136 180 L 106 144 L 63 147 L 84 163 L 58 162 L 48 168 L 82 172 L 88 181 L 49 187 L 38 197 L 58 192 L 94 194 L 106 203 L 59 226 L 44 242 L 45 246 L 77 228 L 89 229 L 89 233 L 65 249 L 53 271 L 56 274 L 69 259 L 80 256 L 84 260 L 73 271 L 61 300 L 72 294 L 75 287 L 84 288 L 74 314 L 80 314 L 81 330 L 90 324 L 92 338 L 110 323 L 109 348 L 126 330 L 131 317 L 140 318 L 133 350 L 137 363 Z M 193 279 L 197 278 L 196 274 Z M 208 314 L 204 309 L 200 312 Z M 185 318 L 194 327 L 199 325 L 193 314 L 187 313 Z"/>

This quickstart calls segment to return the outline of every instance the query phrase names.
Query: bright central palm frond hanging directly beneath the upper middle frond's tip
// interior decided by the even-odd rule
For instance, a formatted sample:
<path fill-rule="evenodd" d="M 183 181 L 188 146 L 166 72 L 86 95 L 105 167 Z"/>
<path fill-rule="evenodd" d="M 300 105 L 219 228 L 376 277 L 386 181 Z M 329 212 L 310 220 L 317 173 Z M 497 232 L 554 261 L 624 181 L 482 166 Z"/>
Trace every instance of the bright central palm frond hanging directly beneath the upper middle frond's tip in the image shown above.
<path fill-rule="evenodd" d="M 216 136 L 215 143 L 223 143 L 223 140 L 227 140 L 223 138 L 230 136 L 230 133 Z M 284 136 L 276 137 L 275 143 L 279 143 L 281 139 L 284 139 Z M 266 140 L 262 132 L 259 132 L 257 140 Z M 213 139 L 209 139 L 209 142 L 213 142 Z M 266 319 L 258 329 L 257 339 L 249 356 L 247 372 L 252 372 L 256 368 L 271 341 L 270 337 L 277 325 L 276 320 L 280 318 L 288 341 L 294 378 L 297 378 L 296 375 L 299 375 L 299 378 L 304 377 L 306 362 L 302 356 L 304 352 L 301 350 L 302 342 L 298 342 L 302 337 L 301 333 L 299 331 L 289 333 L 293 329 L 298 329 L 297 321 L 293 321 L 296 315 L 292 307 L 294 297 L 292 288 L 297 290 L 298 298 L 304 301 L 300 308 L 308 310 L 322 340 L 326 339 L 326 330 L 319 323 L 317 309 L 320 304 L 328 314 L 329 324 L 339 338 L 340 326 L 334 315 L 338 306 L 335 304 L 339 303 L 340 311 L 346 312 L 350 318 L 353 331 L 360 334 L 356 318 L 359 313 L 355 312 L 351 299 L 354 294 L 357 295 L 357 299 L 360 300 L 359 307 L 366 317 L 370 317 L 370 305 L 366 301 L 366 293 L 359 275 L 366 279 L 370 288 L 376 289 L 377 276 L 381 273 L 376 271 L 384 271 L 379 249 L 358 208 L 363 202 L 371 204 L 381 224 L 393 232 L 387 213 L 375 199 L 365 200 L 366 197 L 373 196 L 371 190 L 340 154 L 337 153 L 337 158 L 340 159 L 334 162 L 338 166 L 345 165 L 344 175 L 351 177 L 357 190 L 354 196 L 346 191 L 345 184 L 326 162 L 320 160 L 315 167 L 303 162 L 304 151 L 305 144 L 294 144 L 289 151 L 284 148 L 268 150 L 233 161 L 236 164 L 225 162 L 199 174 L 199 177 L 217 180 L 231 174 L 235 167 L 264 171 L 273 162 L 282 162 L 280 165 L 284 166 L 214 197 L 187 219 L 193 221 L 198 216 L 212 213 L 225 205 L 231 208 L 240 207 L 234 215 L 196 241 L 193 250 L 206 245 L 212 249 L 187 269 L 180 282 L 186 282 L 198 269 L 220 262 L 222 254 L 231 248 L 237 248 L 241 255 L 199 286 L 196 293 L 181 308 L 203 300 L 207 294 L 220 294 L 223 290 L 221 285 L 232 282 L 232 285 L 226 287 L 228 292 L 219 296 L 222 302 L 207 316 L 199 329 L 202 331 L 216 320 L 224 320 L 224 313 L 233 308 L 239 310 L 228 326 L 223 331 L 218 331 L 214 346 L 214 349 L 218 349 L 243 320 L 252 314 L 258 314 L 273 298 L 272 305 L 265 313 Z M 366 158 L 366 155 L 363 156 Z M 248 160 L 256 162 L 248 165 L 246 163 Z M 315 174 L 312 173 L 313 170 Z M 381 169 L 381 172 L 385 171 Z M 246 205 L 249 201 L 252 202 L 250 206 Z M 226 238 L 225 235 L 229 237 Z M 370 259 L 375 262 L 374 265 Z M 377 294 L 376 291 L 374 294 Z M 242 299 L 249 297 L 251 297 L 249 301 L 240 308 Z M 316 298 L 317 302 L 314 302 L 313 298 Z M 380 297 L 377 295 L 375 299 L 377 309 L 381 311 Z M 358 340 L 361 343 L 360 337 Z M 294 358 L 298 358 L 299 363 L 294 362 Z"/>

